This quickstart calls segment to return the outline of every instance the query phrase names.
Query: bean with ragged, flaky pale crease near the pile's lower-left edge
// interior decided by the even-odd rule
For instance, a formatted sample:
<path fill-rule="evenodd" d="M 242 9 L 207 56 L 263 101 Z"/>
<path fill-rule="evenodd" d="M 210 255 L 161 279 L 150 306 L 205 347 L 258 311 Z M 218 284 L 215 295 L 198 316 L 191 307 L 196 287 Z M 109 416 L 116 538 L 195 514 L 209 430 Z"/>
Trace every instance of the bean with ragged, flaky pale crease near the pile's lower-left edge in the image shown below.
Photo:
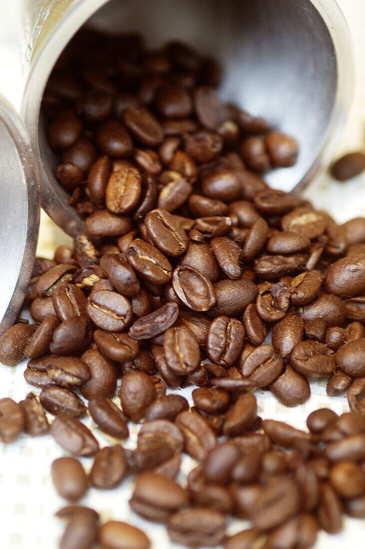
<path fill-rule="evenodd" d="M 47 361 L 49 379 L 62 387 L 70 388 L 90 379 L 88 366 L 72 356 L 50 356 Z"/>

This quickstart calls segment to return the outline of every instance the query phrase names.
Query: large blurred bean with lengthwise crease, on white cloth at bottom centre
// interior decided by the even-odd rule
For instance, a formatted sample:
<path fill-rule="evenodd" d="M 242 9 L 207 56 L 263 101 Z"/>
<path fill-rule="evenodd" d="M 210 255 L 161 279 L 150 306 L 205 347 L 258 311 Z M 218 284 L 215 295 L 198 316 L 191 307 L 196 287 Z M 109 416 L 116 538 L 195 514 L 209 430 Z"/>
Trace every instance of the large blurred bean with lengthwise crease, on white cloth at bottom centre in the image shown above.
<path fill-rule="evenodd" d="M 135 513 L 154 522 L 166 522 L 172 513 L 187 505 L 187 490 L 174 480 L 154 473 L 138 475 L 130 499 Z"/>

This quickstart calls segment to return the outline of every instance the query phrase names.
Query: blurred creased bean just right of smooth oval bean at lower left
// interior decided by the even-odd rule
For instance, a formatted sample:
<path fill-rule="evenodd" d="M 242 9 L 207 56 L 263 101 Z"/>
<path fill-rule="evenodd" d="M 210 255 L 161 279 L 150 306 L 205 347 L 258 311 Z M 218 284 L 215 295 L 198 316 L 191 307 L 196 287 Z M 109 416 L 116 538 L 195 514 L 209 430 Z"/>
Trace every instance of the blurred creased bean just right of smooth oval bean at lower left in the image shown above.
<path fill-rule="evenodd" d="M 127 473 L 127 461 L 123 448 L 106 446 L 97 451 L 90 471 L 91 483 L 99 490 L 116 488 L 125 478 Z"/>

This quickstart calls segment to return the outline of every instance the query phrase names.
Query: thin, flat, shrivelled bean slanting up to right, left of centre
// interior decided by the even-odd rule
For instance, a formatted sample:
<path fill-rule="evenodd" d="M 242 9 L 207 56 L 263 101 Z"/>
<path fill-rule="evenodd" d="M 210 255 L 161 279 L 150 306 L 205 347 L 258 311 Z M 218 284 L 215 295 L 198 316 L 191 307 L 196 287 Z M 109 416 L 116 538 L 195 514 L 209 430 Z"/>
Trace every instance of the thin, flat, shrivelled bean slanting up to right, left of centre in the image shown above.
<path fill-rule="evenodd" d="M 166 303 L 160 309 L 139 318 L 132 324 L 128 334 L 132 339 L 150 339 L 162 334 L 175 324 L 178 315 L 176 303 Z"/>

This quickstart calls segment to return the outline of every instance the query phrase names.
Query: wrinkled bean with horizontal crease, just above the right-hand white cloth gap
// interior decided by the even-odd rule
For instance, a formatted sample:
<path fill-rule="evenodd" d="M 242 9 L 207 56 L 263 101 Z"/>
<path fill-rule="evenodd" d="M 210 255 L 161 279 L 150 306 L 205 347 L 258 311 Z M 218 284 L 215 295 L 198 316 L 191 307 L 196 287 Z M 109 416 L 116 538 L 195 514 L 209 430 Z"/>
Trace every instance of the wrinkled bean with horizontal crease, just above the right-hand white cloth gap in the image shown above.
<path fill-rule="evenodd" d="M 332 374 L 336 368 L 332 350 L 318 341 L 301 341 L 291 351 L 290 362 L 297 372 L 308 377 Z"/>

